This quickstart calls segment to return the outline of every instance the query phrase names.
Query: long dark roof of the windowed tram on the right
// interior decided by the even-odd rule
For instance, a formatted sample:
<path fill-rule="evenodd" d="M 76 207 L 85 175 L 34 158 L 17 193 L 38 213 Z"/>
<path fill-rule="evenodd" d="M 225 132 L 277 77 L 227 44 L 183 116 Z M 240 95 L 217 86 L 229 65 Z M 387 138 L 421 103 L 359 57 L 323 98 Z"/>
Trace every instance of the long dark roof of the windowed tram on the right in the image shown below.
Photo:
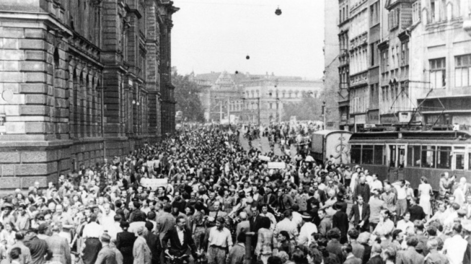
<path fill-rule="evenodd" d="M 350 140 L 424 139 L 424 140 L 471 140 L 468 131 L 382 131 L 353 133 Z"/>

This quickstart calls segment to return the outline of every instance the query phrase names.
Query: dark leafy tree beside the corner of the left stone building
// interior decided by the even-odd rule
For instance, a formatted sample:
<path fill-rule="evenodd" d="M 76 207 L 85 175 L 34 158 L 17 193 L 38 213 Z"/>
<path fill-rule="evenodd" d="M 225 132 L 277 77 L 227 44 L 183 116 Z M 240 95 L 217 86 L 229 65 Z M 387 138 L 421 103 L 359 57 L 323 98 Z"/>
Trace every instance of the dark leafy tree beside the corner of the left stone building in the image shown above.
<path fill-rule="evenodd" d="M 182 111 L 182 120 L 204 122 L 198 84 L 190 80 L 190 75 L 179 75 L 176 71 L 172 73 L 172 84 L 175 86 L 176 111 Z"/>

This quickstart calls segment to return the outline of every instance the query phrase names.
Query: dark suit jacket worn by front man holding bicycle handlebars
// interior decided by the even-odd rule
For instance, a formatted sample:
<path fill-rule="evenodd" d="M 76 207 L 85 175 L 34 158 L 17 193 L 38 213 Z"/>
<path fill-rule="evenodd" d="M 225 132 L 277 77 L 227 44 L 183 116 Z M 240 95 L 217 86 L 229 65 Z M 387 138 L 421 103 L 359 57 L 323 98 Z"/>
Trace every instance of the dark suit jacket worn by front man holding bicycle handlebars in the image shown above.
<path fill-rule="evenodd" d="M 188 247 L 191 249 L 191 254 L 196 254 L 196 246 L 191 232 L 186 227 L 184 228 L 183 244 L 180 243 L 180 239 L 178 238 L 177 227 L 170 229 L 170 231 L 165 234 L 162 239 L 162 249 L 164 251 L 167 250 L 167 243 L 170 240 L 171 248 L 169 249 L 169 253 L 171 255 L 180 257 L 186 253 Z"/>

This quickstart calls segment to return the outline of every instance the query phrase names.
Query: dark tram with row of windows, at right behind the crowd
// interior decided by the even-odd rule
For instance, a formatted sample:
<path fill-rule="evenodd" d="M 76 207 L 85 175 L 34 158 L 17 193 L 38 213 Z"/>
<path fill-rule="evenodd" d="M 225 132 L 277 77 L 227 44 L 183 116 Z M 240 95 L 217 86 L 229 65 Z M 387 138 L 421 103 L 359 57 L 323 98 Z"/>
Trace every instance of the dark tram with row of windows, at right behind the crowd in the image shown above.
<path fill-rule="evenodd" d="M 354 133 L 350 163 L 378 174 L 379 180 L 405 179 L 416 189 L 425 176 L 434 190 L 440 175 L 471 180 L 471 133 L 468 131 L 384 131 Z"/>

